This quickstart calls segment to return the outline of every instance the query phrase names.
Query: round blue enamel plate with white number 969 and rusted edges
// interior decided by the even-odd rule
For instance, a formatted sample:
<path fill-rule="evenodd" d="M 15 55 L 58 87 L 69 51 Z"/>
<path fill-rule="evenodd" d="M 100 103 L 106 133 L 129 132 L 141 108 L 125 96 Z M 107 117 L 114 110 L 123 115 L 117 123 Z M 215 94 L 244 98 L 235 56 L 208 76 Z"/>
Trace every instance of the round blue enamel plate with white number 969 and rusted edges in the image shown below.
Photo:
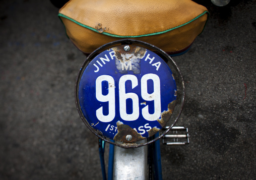
<path fill-rule="evenodd" d="M 175 80 L 152 51 L 133 45 L 113 47 L 80 71 L 79 110 L 103 136 L 139 141 L 170 119 L 177 95 Z"/>

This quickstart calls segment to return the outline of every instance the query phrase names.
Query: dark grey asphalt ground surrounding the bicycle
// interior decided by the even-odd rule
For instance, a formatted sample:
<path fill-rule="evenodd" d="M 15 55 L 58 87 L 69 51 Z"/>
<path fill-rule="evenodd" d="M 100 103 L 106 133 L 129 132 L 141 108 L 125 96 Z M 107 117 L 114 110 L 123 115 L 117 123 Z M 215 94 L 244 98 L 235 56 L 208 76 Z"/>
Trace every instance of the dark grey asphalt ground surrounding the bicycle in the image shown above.
<path fill-rule="evenodd" d="M 163 179 L 256 179 L 256 2 L 197 2 L 210 11 L 207 26 L 173 58 L 186 86 L 177 125 L 190 144 L 161 145 Z M 58 9 L 2 0 L 0 10 L 0 179 L 101 179 L 97 137 L 74 98 L 86 57 Z"/>

